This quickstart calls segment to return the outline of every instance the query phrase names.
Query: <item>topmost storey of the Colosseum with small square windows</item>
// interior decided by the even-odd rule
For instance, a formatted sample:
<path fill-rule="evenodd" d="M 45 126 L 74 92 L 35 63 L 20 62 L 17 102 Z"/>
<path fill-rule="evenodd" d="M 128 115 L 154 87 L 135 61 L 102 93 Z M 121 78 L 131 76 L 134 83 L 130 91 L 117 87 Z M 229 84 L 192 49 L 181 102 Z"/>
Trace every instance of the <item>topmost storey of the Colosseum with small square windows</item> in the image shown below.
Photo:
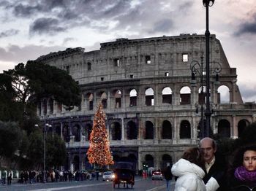
<path fill-rule="evenodd" d="M 205 36 L 181 34 L 146 39 L 116 39 L 100 44 L 100 50 L 67 49 L 37 60 L 69 74 L 80 84 L 129 78 L 190 76 L 190 63 L 205 55 Z M 219 62 L 225 74 L 235 75 L 215 35 L 210 36 L 210 61 Z M 187 61 L 184 61 L 187 55 Z"/>

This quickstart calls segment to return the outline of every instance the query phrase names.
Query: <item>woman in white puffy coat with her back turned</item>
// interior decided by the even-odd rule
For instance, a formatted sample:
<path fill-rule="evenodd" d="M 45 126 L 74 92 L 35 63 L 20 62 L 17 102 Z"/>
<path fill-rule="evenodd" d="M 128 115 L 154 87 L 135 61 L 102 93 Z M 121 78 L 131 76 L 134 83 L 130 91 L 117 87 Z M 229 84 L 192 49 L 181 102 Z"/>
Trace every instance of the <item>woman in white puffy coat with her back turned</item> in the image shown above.
<path fill-rule="evenodd" d="M 200 149 L 192 147 L 187 149 L 181 159 L 175 163 L 171 169 L 176 179 L 175 191 L 214 191 L 219 184 L 211 178 L 205 185 L 203 182 L 204 160 L 200 155 Z"/>

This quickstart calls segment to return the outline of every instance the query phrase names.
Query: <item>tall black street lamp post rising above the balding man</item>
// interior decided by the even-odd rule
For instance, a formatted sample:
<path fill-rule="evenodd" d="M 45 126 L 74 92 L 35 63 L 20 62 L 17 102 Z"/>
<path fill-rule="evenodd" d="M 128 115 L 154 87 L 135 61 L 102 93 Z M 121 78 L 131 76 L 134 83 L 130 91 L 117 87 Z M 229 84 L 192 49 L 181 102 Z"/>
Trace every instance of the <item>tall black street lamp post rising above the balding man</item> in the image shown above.
<path fill-rule="evenodd" d="M 206 132 L 205 136 L 210 135 L 211 111 L 210 111 L 210 31 L 209 31 L 209 7 L 214 5 L 214 0 L 203 0 L 206 7 Z"/>

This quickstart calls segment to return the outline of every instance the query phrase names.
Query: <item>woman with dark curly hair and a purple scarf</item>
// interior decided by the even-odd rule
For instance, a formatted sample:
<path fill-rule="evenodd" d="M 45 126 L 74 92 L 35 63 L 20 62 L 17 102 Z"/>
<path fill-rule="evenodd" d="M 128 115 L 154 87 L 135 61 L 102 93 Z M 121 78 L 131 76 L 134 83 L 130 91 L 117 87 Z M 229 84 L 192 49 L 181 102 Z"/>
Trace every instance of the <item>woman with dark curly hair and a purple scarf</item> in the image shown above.
<path fill-rule="evenodd" d="M 256 190 L 256 145 L 236 150 L 228 171 L 228 182 L 232 191 Z"/>

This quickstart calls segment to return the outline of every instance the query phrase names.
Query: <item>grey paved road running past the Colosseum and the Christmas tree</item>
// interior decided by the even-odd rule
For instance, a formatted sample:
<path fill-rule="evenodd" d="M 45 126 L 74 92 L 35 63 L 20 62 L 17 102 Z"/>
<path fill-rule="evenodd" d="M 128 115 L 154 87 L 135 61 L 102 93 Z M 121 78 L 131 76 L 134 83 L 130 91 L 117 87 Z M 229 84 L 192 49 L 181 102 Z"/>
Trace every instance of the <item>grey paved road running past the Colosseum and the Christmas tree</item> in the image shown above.
<path fill-rule="evenodd" d="M 174 182 L 172 182 L 172 188 Z M 113 189 L 112 182 L 103 181 L 83 181 L 83 182 L 55 182 L 55 183 L 36 183 L 36 184 L 18 184 L 13 183 L 11 186 L 0 186 L 0 190 L 4 191 L 112 191 L 112 190 L 127 190 L 126 187 Z M 128 190 L 131 190 L 129 188 Z M 152 181 L 151 179 L 143 179 L 138 176 L 135 179 L 135 185 L 132 190 L 135 191 L 165 191 L 165 181 Z M 172 189 L 173 190 L 173 189 Z"/>

